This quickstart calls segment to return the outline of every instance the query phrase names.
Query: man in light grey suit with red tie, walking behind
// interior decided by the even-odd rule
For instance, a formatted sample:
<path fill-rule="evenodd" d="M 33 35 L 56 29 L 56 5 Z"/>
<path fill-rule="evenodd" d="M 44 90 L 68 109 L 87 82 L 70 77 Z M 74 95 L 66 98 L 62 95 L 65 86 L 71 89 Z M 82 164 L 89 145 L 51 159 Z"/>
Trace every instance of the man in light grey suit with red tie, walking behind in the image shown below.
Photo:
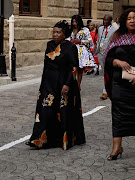
<path fill-rule="evenodd" d="M 98 61 L 101 65 L 102 71 L 104 73 L 104 55 L 107 45 L 109 43 L 110 37 L 117 30 L 116 27 L 112 26 L 112 16 L 107 14 L 103 18 L 103 26 L 98 29 L 98 40 L 97 40 L 97 49 L 96 55 L 98 56 Z M 104 84 L 103 84 L 104 86 Z M 100 97 L 102 100 L 106 100 L 108 97 L 105 87 L 103 88 L 103 93 Z"/>

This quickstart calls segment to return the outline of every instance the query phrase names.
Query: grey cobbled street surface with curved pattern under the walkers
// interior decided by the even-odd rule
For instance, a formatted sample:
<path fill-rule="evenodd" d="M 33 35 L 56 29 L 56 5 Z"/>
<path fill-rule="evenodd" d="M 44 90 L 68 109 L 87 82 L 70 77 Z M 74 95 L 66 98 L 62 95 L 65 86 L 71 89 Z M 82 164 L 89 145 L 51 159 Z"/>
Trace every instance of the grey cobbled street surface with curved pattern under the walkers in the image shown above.
<path fill-rule="evenodd" d="M 23 69 L 18 76 L 28 80 L 23 73 L 34 74 L 35 69 Z M 41 69 L 31 77 L 40 77 Z M 106 160 L 112 146 L 111 103 L 99 98 L 102 82 L 102 74 L 83 76 L 83 113 L 105 106 L 84 117 L 85 145 L 32 150 L 23 142 L 0 151 L 0 180 L 135 180 L 135 137 L 123 138 L 122 159 Z M 0 92 L 0 146 L 32 133 L 39 84 Z"/>

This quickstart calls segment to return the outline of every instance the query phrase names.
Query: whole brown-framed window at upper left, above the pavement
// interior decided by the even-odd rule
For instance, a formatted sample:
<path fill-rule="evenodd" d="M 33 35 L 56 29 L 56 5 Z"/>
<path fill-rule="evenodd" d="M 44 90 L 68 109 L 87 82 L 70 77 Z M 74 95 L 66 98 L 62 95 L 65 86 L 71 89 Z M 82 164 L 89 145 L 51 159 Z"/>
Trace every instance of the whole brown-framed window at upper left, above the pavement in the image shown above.
<path fill-rule="evenodd" d="M 40 15 L 40 0 L 20 0 L 19 14 L 20 15 Z"/>

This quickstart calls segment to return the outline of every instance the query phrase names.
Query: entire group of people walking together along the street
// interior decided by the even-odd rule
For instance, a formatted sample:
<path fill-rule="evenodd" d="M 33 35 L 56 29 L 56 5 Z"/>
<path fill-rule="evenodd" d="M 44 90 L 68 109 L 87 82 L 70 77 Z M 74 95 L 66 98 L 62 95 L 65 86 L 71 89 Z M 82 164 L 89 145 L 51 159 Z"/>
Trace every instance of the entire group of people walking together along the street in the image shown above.
<path fill-rule="evenodd" d="M 64 150 L 86 143 L 81 108 L 83 72 L 99 75 L 105 84 L 102 100 L 112 102 L 113 150 L 108 160 L 123 153 L 122 137 L 135 136 L 135 10 L 125 11 L 112 24 L 105 15 L 103 23 L 87 21 L 81 16 L 66 20 L 53 28 L 53 40 L 47 43 L 44 69 L 37 97 L 33 133 L 26 143 L 30 147 Z M 130 72 L 131 78 L 122 76 Z M 128 76 L 129 77 L 129 76 Z"/>

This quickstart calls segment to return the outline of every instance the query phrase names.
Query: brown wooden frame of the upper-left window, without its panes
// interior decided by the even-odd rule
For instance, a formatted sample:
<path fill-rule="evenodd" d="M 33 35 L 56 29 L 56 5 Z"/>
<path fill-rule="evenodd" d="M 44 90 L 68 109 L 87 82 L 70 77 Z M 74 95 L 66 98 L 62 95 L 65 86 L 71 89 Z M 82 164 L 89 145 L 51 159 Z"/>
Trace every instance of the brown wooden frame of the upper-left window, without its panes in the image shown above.
<path fill-rule="evenodd" d="M 20 0 L 19 15 L 20 16 L 41 16 L 41 0 L 38 0 L 38 1 L 39 1 L 38 12 L 32 11 L 33 0 L 30 0 L 30 12 L 23 12 L 23 0 Z"/>

